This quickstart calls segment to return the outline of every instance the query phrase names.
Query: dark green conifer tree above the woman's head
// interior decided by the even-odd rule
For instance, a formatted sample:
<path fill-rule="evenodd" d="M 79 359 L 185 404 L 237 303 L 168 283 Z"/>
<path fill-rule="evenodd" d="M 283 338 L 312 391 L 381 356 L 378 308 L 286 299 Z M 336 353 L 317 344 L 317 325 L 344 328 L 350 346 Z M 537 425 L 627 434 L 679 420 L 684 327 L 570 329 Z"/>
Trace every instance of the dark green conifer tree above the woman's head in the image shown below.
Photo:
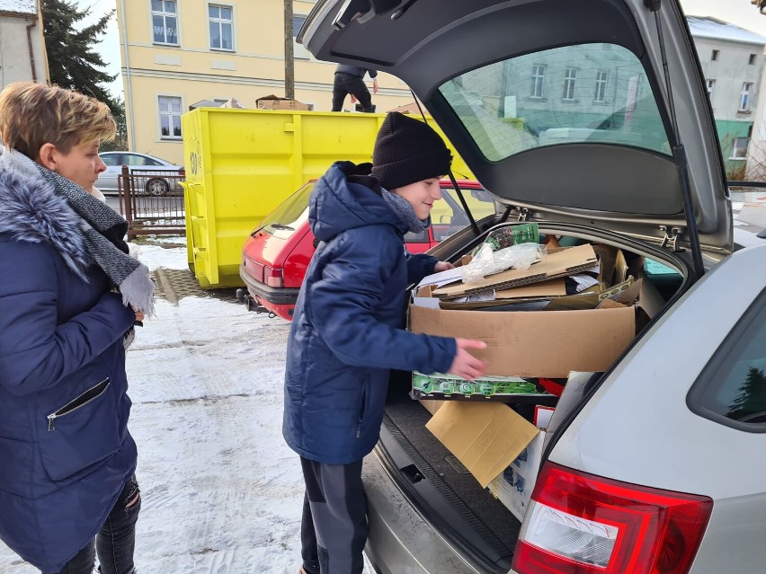
<path fill-rule="evenodd" d="M 74 2 L 67 0 L 42 0 L 41 10 L 50 83 L 93 96 L 107 104 L 117 119 L 120 101 L 104 87 L 104 84 L 114 81 L 117 75 L 99 69 L 106 64 L 94 49 L 106 32 L 106 26 L 115 10 L 105 13 L 98 22 L 81 30 L 77 30 L 76 25 L 85 18 L 88 9 L 79 11 Z M 124 119 L 124 104 L 121 105 L 121 113 Z"/>

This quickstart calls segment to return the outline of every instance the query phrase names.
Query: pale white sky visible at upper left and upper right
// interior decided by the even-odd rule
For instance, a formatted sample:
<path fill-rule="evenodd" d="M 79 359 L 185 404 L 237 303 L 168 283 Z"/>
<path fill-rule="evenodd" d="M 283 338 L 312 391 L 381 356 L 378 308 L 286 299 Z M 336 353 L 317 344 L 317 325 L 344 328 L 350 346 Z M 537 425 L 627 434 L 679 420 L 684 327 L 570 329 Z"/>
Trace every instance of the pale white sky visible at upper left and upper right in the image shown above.
<path fill-rule="evenodd" d="M 90 9 L 90 23 L 115 8 L 120 0 L 76 0 L 82 10 Z M 750 0 L 681 0 L 684 13 L 693 16 L 714 16 L 720 20 L 731 22 L 746 30 L 766 36 L 766 15 L 758 12 Z M 107 63 L 107 72 L 118 74 L 117 79 L 110 85 L 111 92 L 122 96 L 122 79 L 120 78 L 120 41 L 116 17 L 110 22 L 106 36 L 97 47 L 103 60 Z"/>

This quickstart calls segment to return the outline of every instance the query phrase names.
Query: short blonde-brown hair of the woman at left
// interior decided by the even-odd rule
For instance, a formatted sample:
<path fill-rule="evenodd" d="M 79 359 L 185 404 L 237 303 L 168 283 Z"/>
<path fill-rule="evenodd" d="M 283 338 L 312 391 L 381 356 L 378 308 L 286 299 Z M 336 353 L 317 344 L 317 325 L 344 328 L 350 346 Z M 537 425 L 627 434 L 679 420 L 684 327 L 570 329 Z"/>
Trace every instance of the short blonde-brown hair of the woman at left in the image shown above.
<path fill-rule="evenodd" d="M 116 132 L 105 103 L 58 85 L 13 82 L 0 92 L 0 140 L 34 160 L 43 144 L 72 147 L 109 140 Z"/>

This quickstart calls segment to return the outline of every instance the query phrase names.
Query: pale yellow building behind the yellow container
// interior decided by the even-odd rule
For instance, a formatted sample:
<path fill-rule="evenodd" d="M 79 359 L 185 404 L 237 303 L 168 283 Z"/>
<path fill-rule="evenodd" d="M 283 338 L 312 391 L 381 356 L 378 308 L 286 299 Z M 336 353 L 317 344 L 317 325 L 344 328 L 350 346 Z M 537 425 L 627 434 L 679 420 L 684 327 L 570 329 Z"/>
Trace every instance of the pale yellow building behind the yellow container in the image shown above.
<path fill-rule="evenodd" d="M 293 2 L 293 36 L 314 4 Z M 283 0 L 117 0 L 117 21 L 133 151 L 183 163 L 181 115 L 191 105 L 236 98 L 255 108 L 259 97 L 285 96 Z M 295 98 L 329 111 L 334 64 L 293 48 Z M 396 77 L 378 79 L 378 111 L 412 102 Z"/>

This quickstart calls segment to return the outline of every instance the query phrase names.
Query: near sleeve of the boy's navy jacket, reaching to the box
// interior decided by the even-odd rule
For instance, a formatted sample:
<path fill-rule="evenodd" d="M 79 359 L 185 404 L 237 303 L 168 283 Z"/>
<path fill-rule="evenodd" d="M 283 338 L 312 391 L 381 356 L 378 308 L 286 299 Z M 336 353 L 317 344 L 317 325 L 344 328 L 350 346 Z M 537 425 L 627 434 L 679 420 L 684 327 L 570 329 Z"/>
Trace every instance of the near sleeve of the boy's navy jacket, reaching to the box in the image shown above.
<path fill-rule="evenodd" d="M 378 320 L 388 269 L 401 246 L 392 249 L 372 237 L 345 237 L 310 287 L 311 313 L 335 357 L 346 365 L 447 372 L 457 353 L 454 339 L 414 334 Z"/>

